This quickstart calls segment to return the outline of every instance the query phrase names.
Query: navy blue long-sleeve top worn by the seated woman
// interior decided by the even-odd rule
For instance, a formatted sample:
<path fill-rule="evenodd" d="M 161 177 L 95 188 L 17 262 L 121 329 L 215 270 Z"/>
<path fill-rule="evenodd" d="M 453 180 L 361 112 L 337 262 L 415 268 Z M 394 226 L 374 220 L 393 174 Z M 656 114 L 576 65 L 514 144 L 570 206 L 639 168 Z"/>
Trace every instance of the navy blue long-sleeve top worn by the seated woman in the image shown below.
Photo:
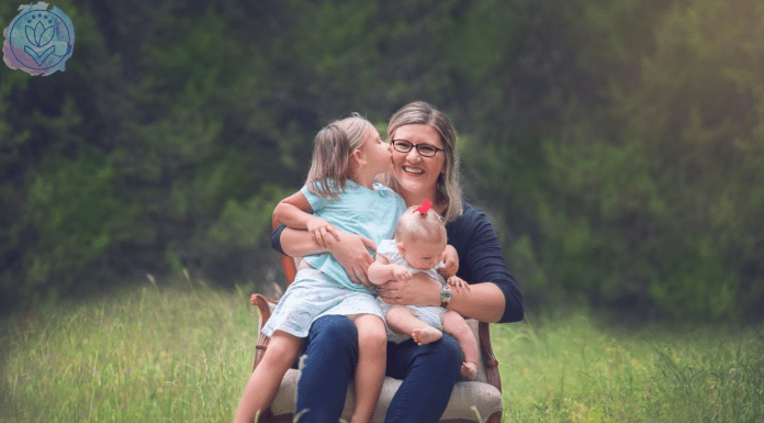
<path fill-rule="evenodd" d="M 465 202 L 462 202 L 462 215 L 446 224 L 448 243 L 459 254 L 457 276 L 468 283 L 492 282 L 502 290 L 505 305 L 499 323 L 523 320 L 523 296 L 504 261 L 496 230 L 483 211 Z M 284 225 L 281 225 L 271 234 L 271 246 L 281 253 L 283 229 Z"/>

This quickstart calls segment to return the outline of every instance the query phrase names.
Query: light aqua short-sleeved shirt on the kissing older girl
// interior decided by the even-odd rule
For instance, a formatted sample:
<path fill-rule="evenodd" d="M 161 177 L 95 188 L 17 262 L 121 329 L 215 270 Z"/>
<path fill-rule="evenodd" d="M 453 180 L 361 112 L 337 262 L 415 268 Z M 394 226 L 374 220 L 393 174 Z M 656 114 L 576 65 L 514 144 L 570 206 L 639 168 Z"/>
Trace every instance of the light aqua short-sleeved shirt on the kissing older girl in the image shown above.
<path fill-rule="evenodd" d="M 363 235 L 379 245 L 382 240 L 393 237 L 397 220 L 406 210 L 406 203 L 392 189 L 380 183 L 374 183 L 373 187 L 375 189 L 370 190 L 348 180 L 345 192 L 339 194 L 339 199 L 334 200 L 311 193 L 306 186 L 300 192 L 305 196 L 316 216 L 341 231 Z M 370 253 L 373 257 L 374 253 Z M 344 287 L 367 291 L 364 286 L 350 281 L 345 268 L 330 254 L 304 258 L 311 267 Z"/>

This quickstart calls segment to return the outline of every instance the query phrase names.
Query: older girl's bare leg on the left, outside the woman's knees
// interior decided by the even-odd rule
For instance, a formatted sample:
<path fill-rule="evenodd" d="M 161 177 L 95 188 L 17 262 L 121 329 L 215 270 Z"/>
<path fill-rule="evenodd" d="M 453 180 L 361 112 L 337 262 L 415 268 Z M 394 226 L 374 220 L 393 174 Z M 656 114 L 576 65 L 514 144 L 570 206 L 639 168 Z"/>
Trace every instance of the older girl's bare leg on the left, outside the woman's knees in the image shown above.
<path fill-rule="evenodd" d="M 273 332 L 262 360 L 244 389 L 234 423 L 252 423 L 258 411 L 262 413 L 271 405 L 279 392 L 281 379 L 297 358 L 302 343 L 301 337 L 283 331 Z"/>

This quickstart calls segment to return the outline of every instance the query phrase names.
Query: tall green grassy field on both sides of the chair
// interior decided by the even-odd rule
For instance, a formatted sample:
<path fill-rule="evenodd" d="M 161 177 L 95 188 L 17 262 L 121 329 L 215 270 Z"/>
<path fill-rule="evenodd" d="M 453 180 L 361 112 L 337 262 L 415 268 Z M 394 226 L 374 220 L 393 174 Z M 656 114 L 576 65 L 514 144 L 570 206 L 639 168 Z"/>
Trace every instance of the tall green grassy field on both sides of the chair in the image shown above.
<path fill-rule="evenodd" d="M 229 422 L 249 290 L 148 285 L 0 326 L 0 422 Z M 505 422 L 762 422 L 764 329 L 620 332 L 587 313 L 493 325 Z"/>

